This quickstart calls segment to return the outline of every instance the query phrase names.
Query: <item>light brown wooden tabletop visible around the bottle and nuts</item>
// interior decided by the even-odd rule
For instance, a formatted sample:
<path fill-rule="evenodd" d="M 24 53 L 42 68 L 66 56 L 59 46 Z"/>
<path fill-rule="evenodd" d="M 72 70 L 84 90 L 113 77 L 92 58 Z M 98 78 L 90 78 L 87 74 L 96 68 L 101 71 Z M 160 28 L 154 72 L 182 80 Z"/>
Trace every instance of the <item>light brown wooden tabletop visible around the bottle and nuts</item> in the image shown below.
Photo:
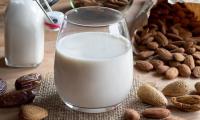
<path fill-rule="evenodd" d="M 3 24 L 3 14 L 6 8 L 8 0 L 0 1 L 0 56 L 4 56 L 4 24 Z M 60 0 L 53 8 L 56 10 L 65 11 L 68 3 L 66 0 Z M 9 90 L 14 89 L 14 81 L 17 77 L 31 73 L 39 72 L 45 74 L 47 72 L 53 72 L 54 63 L 54 50 L 55 50 L 55 40 L 57 37 L 57 32 L 46 30 L 45 33 L 45 57 L 43 63 L 37 68 L 9 68 L 4 65 L 3 58 L 0 59 L 0 78 L 7 81 Z M 141 82 L 152 82 L 162 89 L 166 84 L 173 81 L 163 80 L 161 77 L 155 77 L 151 74 L 143 74 L 135 70 L 135 78 Z M 183 78 L 178 78 L 183 79 Z M 190 85 L 192 86 L 198 80 L 191 80 L 188 78 Z M 192 87 L 194 89 L 194 87 Z M 185 120 L 200 120 L 200 112 L 195 113 L 185 113 L 180 112 L 176 109 L 172 110 L 173 115 L 184 118 Z M 14 109 L 0 109 L 0 120 L 15 120 L 18 114 L 18 108 Z"/>

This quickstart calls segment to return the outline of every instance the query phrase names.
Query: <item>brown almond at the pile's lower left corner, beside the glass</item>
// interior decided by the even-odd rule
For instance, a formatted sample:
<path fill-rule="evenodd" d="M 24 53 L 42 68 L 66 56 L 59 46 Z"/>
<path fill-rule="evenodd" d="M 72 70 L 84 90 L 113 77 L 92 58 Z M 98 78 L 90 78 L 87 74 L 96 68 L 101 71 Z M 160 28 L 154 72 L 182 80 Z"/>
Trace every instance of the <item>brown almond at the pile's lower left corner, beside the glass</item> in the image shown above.
<path fill-rule="evenodd" d="M 148 62 L 148 61 L 137 61 L 136 64 L 135 64 L 135 67 L 141 71 L 145 71 L 145 72 L 148 72 L 148 71 L 151 71 L 153 69 L 153 65 Z"/>

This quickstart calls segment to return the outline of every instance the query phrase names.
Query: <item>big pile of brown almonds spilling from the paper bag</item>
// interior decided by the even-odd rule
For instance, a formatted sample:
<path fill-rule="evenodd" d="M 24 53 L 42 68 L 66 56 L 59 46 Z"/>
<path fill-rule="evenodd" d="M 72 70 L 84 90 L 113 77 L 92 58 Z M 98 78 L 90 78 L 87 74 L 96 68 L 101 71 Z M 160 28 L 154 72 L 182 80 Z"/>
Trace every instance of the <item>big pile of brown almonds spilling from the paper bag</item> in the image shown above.
<path fill-rule="evenodd" d="M 200 78 L 200 22 L 184 4 L 158 3 L 134 34 L 135 67 L 166 79 Z"/>

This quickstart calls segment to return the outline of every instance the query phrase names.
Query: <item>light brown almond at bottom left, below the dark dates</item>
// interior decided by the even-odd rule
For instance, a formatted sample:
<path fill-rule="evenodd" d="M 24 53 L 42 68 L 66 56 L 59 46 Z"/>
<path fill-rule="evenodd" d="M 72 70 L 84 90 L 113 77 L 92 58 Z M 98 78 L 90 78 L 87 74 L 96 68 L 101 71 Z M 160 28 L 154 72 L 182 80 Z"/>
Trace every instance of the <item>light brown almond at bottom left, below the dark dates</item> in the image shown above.
<path fill-rule="evenodd" d="M 48 111 L 35 105 L 24 105 L 21 107 L 20 120 L 41 120 L 48 116 Z"/>

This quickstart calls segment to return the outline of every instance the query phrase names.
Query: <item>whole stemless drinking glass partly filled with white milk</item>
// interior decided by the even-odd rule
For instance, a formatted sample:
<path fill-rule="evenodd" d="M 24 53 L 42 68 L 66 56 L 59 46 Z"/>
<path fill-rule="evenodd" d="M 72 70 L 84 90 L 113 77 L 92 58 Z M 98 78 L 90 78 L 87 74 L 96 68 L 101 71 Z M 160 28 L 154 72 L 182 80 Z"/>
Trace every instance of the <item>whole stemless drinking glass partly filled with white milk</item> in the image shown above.
<path fill-rule="evenodd" d="M 55 54 L 55 84 L 71 109 L 114 109 L 133 80 L 132 46 L 126 21 L 116 10 L 81 7 L 65 14 Z"/>

